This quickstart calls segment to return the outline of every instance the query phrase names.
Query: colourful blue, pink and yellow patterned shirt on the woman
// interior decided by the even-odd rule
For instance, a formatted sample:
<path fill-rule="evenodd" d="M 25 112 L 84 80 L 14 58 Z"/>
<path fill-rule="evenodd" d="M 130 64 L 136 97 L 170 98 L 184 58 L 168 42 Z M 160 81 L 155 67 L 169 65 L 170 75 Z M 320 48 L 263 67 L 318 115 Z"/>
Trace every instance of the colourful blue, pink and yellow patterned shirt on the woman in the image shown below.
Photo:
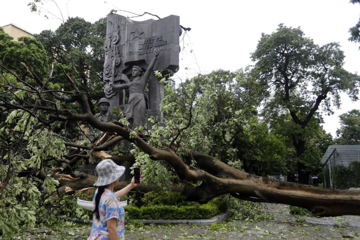
<path fill-rule="evenodd" d="M 98 190 L 96 190 L 94 194 L 94 207 L 97 192 Z M 104 193 L 101 195 L 99 214 L 100 219 L 96 219 L 94 214 L 93 227 L 91 228 L 90 237 L 87 240 L 109 240 L 110 236 L 107 228 L 107 220 L 110 218 L 116 218 L 116 228 L 120 240 L 125 240 L 124 208 L 120 206 L 118 197 L 109 189 L 105 188 Z"/>

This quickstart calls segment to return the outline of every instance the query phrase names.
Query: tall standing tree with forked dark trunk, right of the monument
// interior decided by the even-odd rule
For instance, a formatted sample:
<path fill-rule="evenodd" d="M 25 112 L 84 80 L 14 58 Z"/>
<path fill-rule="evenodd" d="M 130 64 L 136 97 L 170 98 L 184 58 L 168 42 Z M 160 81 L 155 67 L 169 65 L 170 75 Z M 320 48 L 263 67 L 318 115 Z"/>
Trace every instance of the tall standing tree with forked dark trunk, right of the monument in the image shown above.
<path fill-rule="evenodd" d="M 283 24 L 270 35 L 262 33 L 252 53 L 258 82 L 274 93 L 265 105 L 264 116 L 271 121 L 288 112 L 297 126 L 291 137 L 300 183 L 307 184 L 310 175 L 302 159 L 307 150 L 305 131 L 311 120 L 321 120 L 320 107 L 328 114 L 333 113 L 331 104 L 339 108 L 340 92 L 357 100 L 359 77 L 343 68 L 344 58 L 339 44 L 318 46 L 300 28 Z"/>

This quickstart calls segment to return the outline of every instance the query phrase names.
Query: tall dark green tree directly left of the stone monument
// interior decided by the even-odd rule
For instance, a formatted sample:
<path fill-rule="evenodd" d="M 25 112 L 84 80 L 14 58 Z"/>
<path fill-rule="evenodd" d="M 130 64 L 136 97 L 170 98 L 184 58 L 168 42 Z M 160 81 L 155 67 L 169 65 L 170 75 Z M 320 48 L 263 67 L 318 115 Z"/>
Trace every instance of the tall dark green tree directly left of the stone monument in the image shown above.
<path fill-rule="evenodd" d="M 54 32 L 44 30 L 36 34 L 51 62 L 56 63 L 53 82 L 71 90 L 64 68 L 73 74 L 79 89 L 87 93 L 90 101 L 102 98 L 105 35 L 106 18 L 90 23 L 79 17 L 67 19 Z"/>

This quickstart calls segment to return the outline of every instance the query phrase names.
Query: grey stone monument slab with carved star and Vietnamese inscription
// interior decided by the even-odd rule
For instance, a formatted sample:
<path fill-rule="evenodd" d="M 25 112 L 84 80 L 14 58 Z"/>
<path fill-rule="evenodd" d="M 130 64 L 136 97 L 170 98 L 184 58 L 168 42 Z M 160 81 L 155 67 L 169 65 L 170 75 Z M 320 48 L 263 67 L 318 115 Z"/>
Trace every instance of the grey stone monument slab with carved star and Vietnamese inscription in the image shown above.
<path fill-rule="evenodd" d="M 104 44 L 104 92 L 109 99 L 110 109 L 122 105 L 129 118 L 137 116 L 133 120 L 133 126 L 142 125 L 144 121 L 146 123 L 149 117 L 161 118 L 159 110 L 163 100 L 163 85 L 153 71 L 177 71 L 180 35 L 180 19 L 175 15 L 142 22 L 114 13 L 108 15 Z M 134 66 L 137 67 L 133 68 Z M 144 95 L 145 102 L 141 99 L 141 106 L 145 109 L 138 113 L 134 113 L 138 110 L 133 110 L 133 98 L 129 94 L 131 89 L 128 90 L 131 75 L 134 80 L 140 78 L 138 73 L 134 76 L 134 69 L 135 72 L 145 72 L 141 79 L 148 78 L 148 92 L 145 86 L 144 89 L 141 86 L 139 90 Z M 146 69 L 148 74 L 144 71 Z M 127 110 L 129 106 L 132 109 Z M 144 116 L 139 116 L 141 114 Z"/>

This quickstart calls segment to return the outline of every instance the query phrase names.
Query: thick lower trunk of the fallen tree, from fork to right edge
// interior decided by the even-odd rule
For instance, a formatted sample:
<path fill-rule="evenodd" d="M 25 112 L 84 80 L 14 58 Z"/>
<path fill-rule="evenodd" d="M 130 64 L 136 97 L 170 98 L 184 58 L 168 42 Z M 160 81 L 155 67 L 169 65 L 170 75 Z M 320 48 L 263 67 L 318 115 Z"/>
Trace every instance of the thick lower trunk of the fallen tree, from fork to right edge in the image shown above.
<path fill-rule="evenodd" d="M 199 168 L 206 173 L 199 186 L 186 184 L 188 200 L 207 202 L 222 194 L 239 199 L 282 203 L 309 209 L 318 216 L 360 214 L 360 192 L 325 189 L 291 182 L 273 181 L 234 169 L 210 156 L 192 152 Z M 190 168 L 192 169 L 192 168 Z"/>

